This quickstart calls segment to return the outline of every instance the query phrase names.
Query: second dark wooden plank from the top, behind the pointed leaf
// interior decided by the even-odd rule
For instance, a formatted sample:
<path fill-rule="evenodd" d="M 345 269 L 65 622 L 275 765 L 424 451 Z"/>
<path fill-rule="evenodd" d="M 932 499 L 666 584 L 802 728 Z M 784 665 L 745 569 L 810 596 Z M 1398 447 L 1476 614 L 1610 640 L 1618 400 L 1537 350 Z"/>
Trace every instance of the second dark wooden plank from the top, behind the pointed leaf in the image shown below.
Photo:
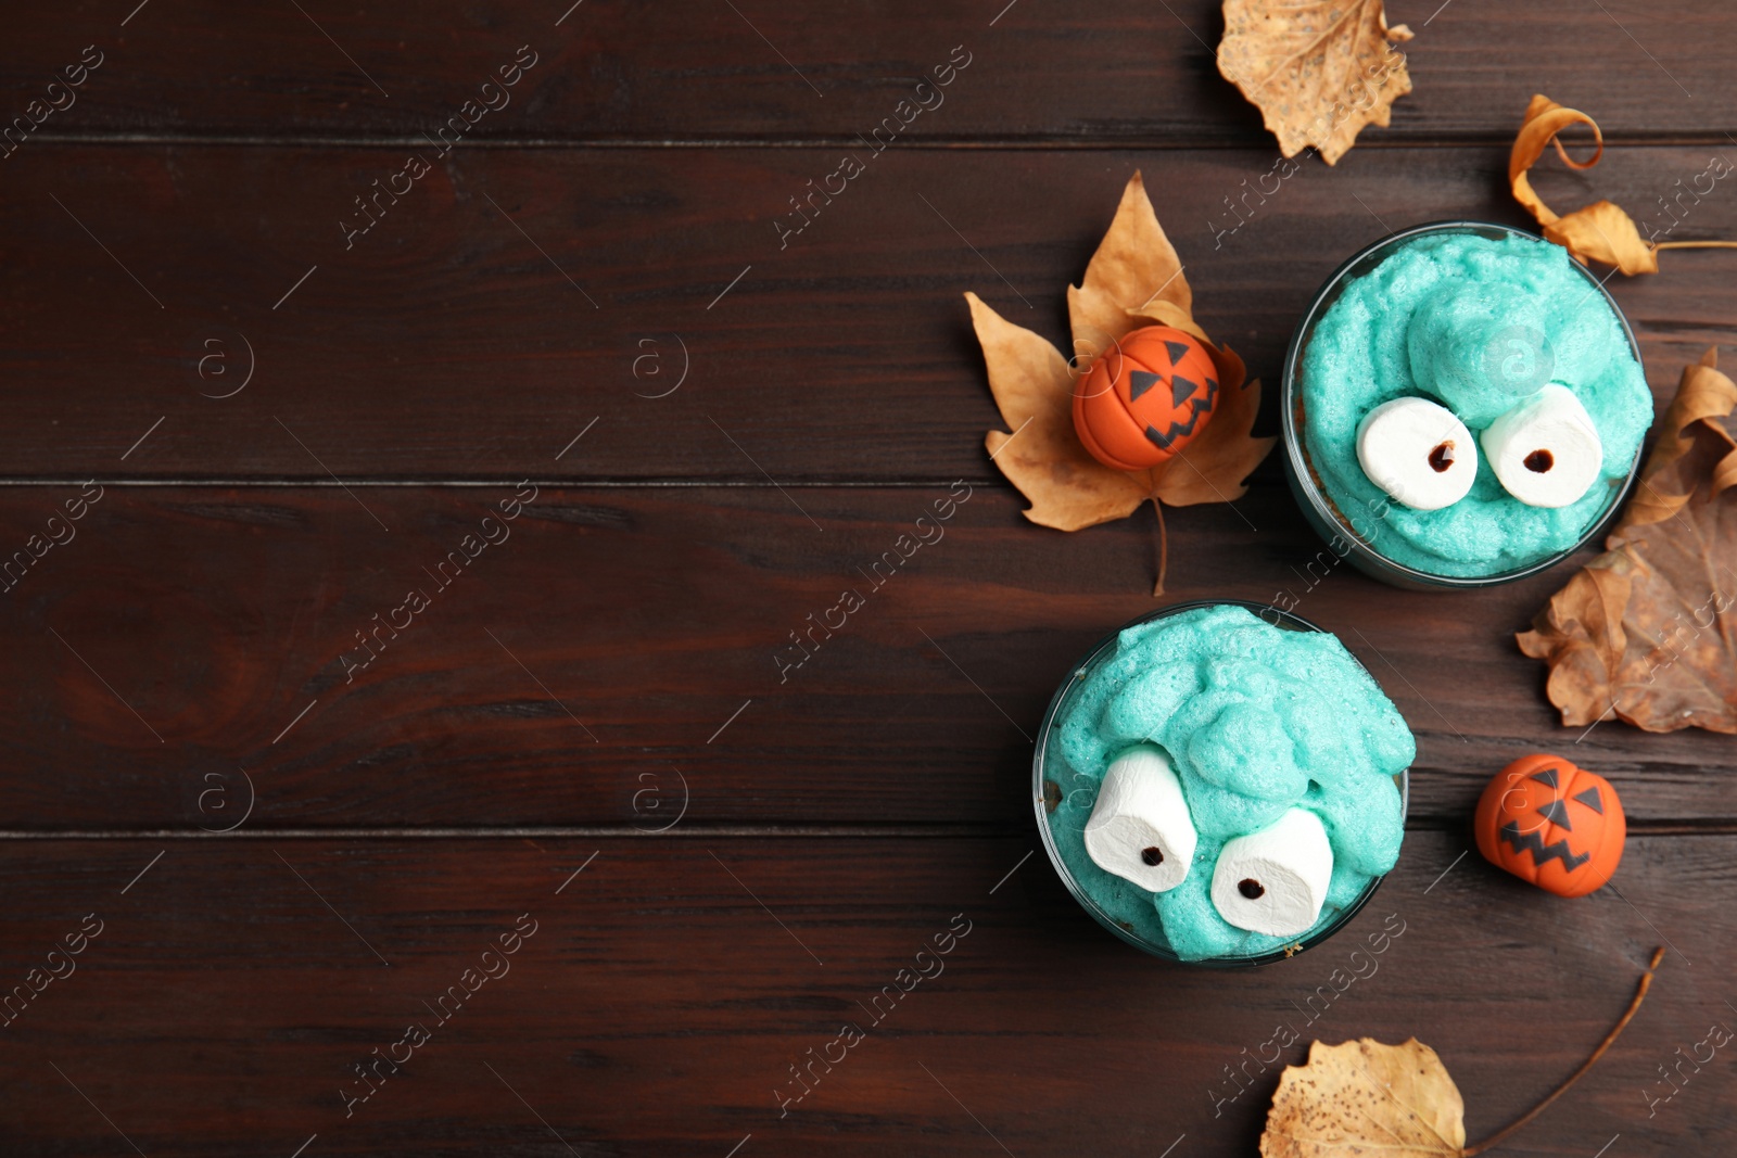
<path fill-rule="evenodd" d="M 1565 208 L 1608 194 L 1645 219 L 1707 158 L 1635 148 L 1596 182 L 1539 184 Z M 997 417 L 961 295 L 1067 344 L 1063 286 L 1136 167 L 1202 325 L 1268 382 L 1318 283 L 1388 226 L 1520 220 L 1494 148 L 1315 165 L 1266 205 L 1249 194 L 1233 234 L 1226 198 L 1258 189 L 1263 153 L 888 153 L 780 250 L 773 219 L 835 151 L 488 149 L 455 153 L 346 252 L 339 217 L 401 163 L 52 144 L 19 161 L 0 182 L 0 302 L 19 335 L 0 366 L 30 389 L 0 431 L 5 470 L 988 479 Z M 1671 236 L 1737 236 L 1737 198 L 1709 194 Z M 1730 269 L 1668 253 L 1664 274 L 1615 280 L 1661 396 L 1737 339 Z"/>

